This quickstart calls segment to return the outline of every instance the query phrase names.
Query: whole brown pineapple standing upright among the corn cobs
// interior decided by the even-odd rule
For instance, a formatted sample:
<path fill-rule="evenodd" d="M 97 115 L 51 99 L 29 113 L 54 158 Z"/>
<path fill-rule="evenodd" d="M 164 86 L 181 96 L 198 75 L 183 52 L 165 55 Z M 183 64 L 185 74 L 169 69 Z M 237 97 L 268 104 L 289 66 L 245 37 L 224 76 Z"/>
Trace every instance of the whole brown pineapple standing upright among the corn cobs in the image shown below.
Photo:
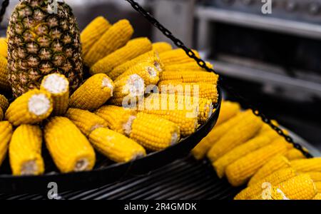
<path fill-rule="evenodd" d="M 83 79 L 79 29 L 71 8 L 54 1 L 23 0 L 9 21 L 8 68 L 14 96 L 39 88 L 49 73 L 61 73 L 71 92 Z"/>

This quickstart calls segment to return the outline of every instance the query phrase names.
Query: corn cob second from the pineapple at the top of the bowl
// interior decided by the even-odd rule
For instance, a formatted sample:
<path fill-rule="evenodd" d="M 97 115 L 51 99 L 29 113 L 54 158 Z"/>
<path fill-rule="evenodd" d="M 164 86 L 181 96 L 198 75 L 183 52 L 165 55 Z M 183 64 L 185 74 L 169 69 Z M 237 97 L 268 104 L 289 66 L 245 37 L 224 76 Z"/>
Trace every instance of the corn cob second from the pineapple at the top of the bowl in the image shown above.
<path fill-rule="evenodd" d="M 93 66 L 101 58 L 125 46 L 132 35 L 133 26 L 131 26 L 128 20 L 122 19 L 113 24 L 88 51 L 84 58 L 85 64 L 89 67 Z"/>

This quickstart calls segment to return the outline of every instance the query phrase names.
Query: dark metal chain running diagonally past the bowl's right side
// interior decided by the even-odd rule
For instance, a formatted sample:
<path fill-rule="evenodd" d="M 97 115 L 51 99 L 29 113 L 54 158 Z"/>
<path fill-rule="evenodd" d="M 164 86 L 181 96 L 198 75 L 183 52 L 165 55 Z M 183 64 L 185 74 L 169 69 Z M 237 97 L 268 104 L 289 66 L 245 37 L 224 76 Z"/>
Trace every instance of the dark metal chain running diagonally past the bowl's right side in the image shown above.
<path fill-rule="evenodd" d="M 189 49 L 187 46 L 185 46 L 183 44 L 183 41 L 180 41 L 180 39 L 176 38 L 175 36 L 173 36 L 173 34 L 166 29 L 161 23 L 159 23 L 151 14 L 148 13 L 148 11 L 146 11 L 145 9 L 143 9 L 143 7 L 141 7 L 136 1 L 133 0 L 126 0 L 128 1 L 129 4 L 131 4 L 131 6 L 133 6 L 133 9 L 135 9 L 136 11 L 138 11 L 142 16 L 144 16 L 151 24 L 153 24 L 153 26 L 156 26 L 156 28 L 158 28 L 166 37 L 168 37 L 168 39 L 170 39 L 171 41 L 173 41 L 173 43 L 178 46 L 178 48 L 183 49 L 186 54 L 190 57 L 193 58 L 198 65 L 201 68 L 204 68 L 206 71 L 209 72 L 213 72 L 218 74 L 213 68 L 209 68 L 205 61 L 203 61 L 203 59 L 198 58 L 198 56 L 195 55 L 195 53 Z M 284 131 L 282 131 L 281 128 L 275 126 L 272 121 L 270 120 L 270 118 L 267 118 L 267 116 L 265 116 L 265 114 L 260 111 L 260 109 L 257 106 L 254 106 L 253 104 L 250 103 L 250 101 L 248 101 L 246 98 L 244 98 L 243 96 L 241 96 L 238 92 L 236 92 L 231 86 L 228 85 L 228 83 L 225 83 L 225 81 L 223 81 L 222 76 L 220 76 L 219 78 L 219 84 L 221 86 L 223 86 L 225 88 L 226 91 L 228 91 L 229 93 L 231 93 L 233 96 L 235 96 L 235 98 L 237 98 L 239 101 L 241 101 L 242 103 L 245 104 L 245 106 L 247 106 L 248 108 L 250 108 L 253 113 L 255 114 L 255 116 L 258 116 L 260 118 L 262 118 L 262 121 L 264 123 L 267 123 L 273 130 L 275 130 L 280 136 L 284 137 L 285 140 L 289 143 L 292 143 L 292 145 L 297 148 L 299 151 L 301 151 L 305 157 L 307 158 L 312 158 L 313 156 L 307 152 L 300 144 L 295 143 L 293 141 L 293 138 L 291 138 L 290 136 L 288 136 L 286 133 L 284 133 Z"/>

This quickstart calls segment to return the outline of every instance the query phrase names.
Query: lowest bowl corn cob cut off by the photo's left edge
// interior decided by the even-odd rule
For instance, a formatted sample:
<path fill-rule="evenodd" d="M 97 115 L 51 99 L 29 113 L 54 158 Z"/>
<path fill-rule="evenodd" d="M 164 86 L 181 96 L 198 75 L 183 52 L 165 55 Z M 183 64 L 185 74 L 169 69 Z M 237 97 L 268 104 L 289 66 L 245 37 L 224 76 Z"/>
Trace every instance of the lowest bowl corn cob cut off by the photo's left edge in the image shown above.
<path fill-rule="evenodd" d="M 0 166 L 6 158 L 8 151 L 9 141 L 12 135 L 12 126 L 8 121 L 0 122 Z"/>

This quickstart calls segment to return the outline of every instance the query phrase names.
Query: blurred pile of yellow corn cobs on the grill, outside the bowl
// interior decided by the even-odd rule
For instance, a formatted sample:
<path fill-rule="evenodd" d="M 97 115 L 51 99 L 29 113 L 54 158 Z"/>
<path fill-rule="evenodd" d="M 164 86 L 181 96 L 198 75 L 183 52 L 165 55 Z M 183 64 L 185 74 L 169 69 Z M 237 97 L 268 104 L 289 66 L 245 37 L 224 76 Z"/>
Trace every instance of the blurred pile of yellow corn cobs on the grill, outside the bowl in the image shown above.
<path fill-rule="evenodd" d="M 248 185 L 235 199 L 321 199 L 321 158 L 305 158 L 238 103 L 223 101 L 218 123 L 192 153 L 207 156 L 231 185 Z"/>

